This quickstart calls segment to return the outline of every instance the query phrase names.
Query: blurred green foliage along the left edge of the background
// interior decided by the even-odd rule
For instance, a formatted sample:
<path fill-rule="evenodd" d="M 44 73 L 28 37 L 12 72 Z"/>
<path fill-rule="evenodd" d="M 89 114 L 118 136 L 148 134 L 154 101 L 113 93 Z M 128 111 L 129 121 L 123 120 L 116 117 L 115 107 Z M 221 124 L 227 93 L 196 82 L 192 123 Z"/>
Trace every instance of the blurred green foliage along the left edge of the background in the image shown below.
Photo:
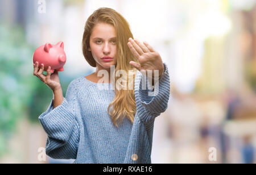
<path fill-rule="evenodd" d="M 0 24 L 0 156 L 6 153 L 7 140 L 16 122 L 27 116 L 38 82 L 32 77 L 35 47 L 26 43 L 22 28 Z"/>

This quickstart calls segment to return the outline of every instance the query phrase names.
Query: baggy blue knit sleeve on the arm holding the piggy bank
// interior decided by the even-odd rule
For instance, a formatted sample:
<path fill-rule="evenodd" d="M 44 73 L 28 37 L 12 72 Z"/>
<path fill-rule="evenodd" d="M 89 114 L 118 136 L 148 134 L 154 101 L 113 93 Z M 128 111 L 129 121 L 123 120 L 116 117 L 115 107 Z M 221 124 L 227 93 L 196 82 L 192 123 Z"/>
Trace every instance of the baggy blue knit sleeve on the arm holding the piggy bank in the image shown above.
<path fill-rule="evenodd" d="M 77 85 L 69 85 L 61 105 L 53 109 L 53 99 L 48 109 L 39 116 L 47 134 L 46 154 L 53 159 L 76 159 L 80 127 L 77 122 Z"/>

